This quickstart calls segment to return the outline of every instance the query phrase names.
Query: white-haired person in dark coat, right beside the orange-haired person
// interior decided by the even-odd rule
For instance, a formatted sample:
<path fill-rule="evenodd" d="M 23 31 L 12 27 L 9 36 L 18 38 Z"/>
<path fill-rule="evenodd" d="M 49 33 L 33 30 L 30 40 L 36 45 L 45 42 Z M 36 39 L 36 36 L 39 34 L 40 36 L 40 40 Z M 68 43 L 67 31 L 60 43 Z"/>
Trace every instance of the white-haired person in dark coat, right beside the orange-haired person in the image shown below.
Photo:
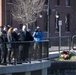
<path fill-rule="evenodd" d="M 18 29 L 17 28 L 13 28 L 12 30 L 12 59 L 14 61 L 16 61 L 18 59 L 18 43 L 17 41 L 19 41 L 19 36 L 18 36 Z"/>

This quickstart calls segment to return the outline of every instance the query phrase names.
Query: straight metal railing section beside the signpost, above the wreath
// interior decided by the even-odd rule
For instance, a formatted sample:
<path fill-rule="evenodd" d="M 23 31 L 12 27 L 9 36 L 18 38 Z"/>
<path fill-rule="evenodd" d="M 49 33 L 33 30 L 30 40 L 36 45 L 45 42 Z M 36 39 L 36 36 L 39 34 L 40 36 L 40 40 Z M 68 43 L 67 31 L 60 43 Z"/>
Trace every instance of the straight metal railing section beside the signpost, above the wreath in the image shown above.
<path fill-rule="evenodd" d="M 71 36 L 61 36 L 61 45 L 59 45 L 59 37 L 44 38 L 49 40 L 49 52 L 71 50 Z"/>

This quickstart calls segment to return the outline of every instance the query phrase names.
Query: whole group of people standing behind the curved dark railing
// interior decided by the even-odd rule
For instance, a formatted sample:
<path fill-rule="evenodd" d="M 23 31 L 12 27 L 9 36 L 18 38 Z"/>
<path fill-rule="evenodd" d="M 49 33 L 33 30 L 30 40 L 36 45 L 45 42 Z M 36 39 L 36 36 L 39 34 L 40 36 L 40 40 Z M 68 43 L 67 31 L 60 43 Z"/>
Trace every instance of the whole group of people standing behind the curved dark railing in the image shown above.
<path fill-rule="evenodd" d="M 30 42 L 26 41 L 36 41 L 34 44 L 36 49 L 37 42 L 42 40 L 42 37 L 43 32 L 40 27 L 37 27 L 32 34 L 27 30 L 26 25 L 20 30 L 10 25 L 4 26 L 0 32 L 0 63 L 11 63 L 13 58 L 18 61 L 28 61 Z"/>

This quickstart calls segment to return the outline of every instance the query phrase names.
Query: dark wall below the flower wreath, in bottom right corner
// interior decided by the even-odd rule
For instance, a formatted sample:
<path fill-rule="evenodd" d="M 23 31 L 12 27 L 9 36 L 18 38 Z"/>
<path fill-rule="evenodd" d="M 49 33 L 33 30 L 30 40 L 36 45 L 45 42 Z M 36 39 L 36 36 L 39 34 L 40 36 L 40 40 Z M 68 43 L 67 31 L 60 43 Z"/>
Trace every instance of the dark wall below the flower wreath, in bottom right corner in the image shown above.
<path fill-rule="evenodd" d="M 76 75 L 75 61 L 53 61 L 48 75 Z"/>

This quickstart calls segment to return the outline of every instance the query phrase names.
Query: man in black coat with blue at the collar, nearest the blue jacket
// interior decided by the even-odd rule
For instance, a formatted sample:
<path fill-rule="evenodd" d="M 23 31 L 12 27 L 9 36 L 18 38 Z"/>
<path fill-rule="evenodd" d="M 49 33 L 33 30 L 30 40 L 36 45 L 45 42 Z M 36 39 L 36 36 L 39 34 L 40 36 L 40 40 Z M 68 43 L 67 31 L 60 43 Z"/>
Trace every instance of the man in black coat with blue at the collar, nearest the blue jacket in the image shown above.
<path fill-rule="evenodd" d="M 23 43 L 19 46 L 19 51 L 20 51 L 20 56 L 22 61 L 27 61 L 28 60 L 28 55 L 29 55 L 29 47 L 30 43 L 27 41 L 33 41 L 33 37 L 30 32 L 26 30 L 26 26 L 23 25 L 22 30 L 20 31 L 20 41 L 26 41 L 26 43 Z"/>

